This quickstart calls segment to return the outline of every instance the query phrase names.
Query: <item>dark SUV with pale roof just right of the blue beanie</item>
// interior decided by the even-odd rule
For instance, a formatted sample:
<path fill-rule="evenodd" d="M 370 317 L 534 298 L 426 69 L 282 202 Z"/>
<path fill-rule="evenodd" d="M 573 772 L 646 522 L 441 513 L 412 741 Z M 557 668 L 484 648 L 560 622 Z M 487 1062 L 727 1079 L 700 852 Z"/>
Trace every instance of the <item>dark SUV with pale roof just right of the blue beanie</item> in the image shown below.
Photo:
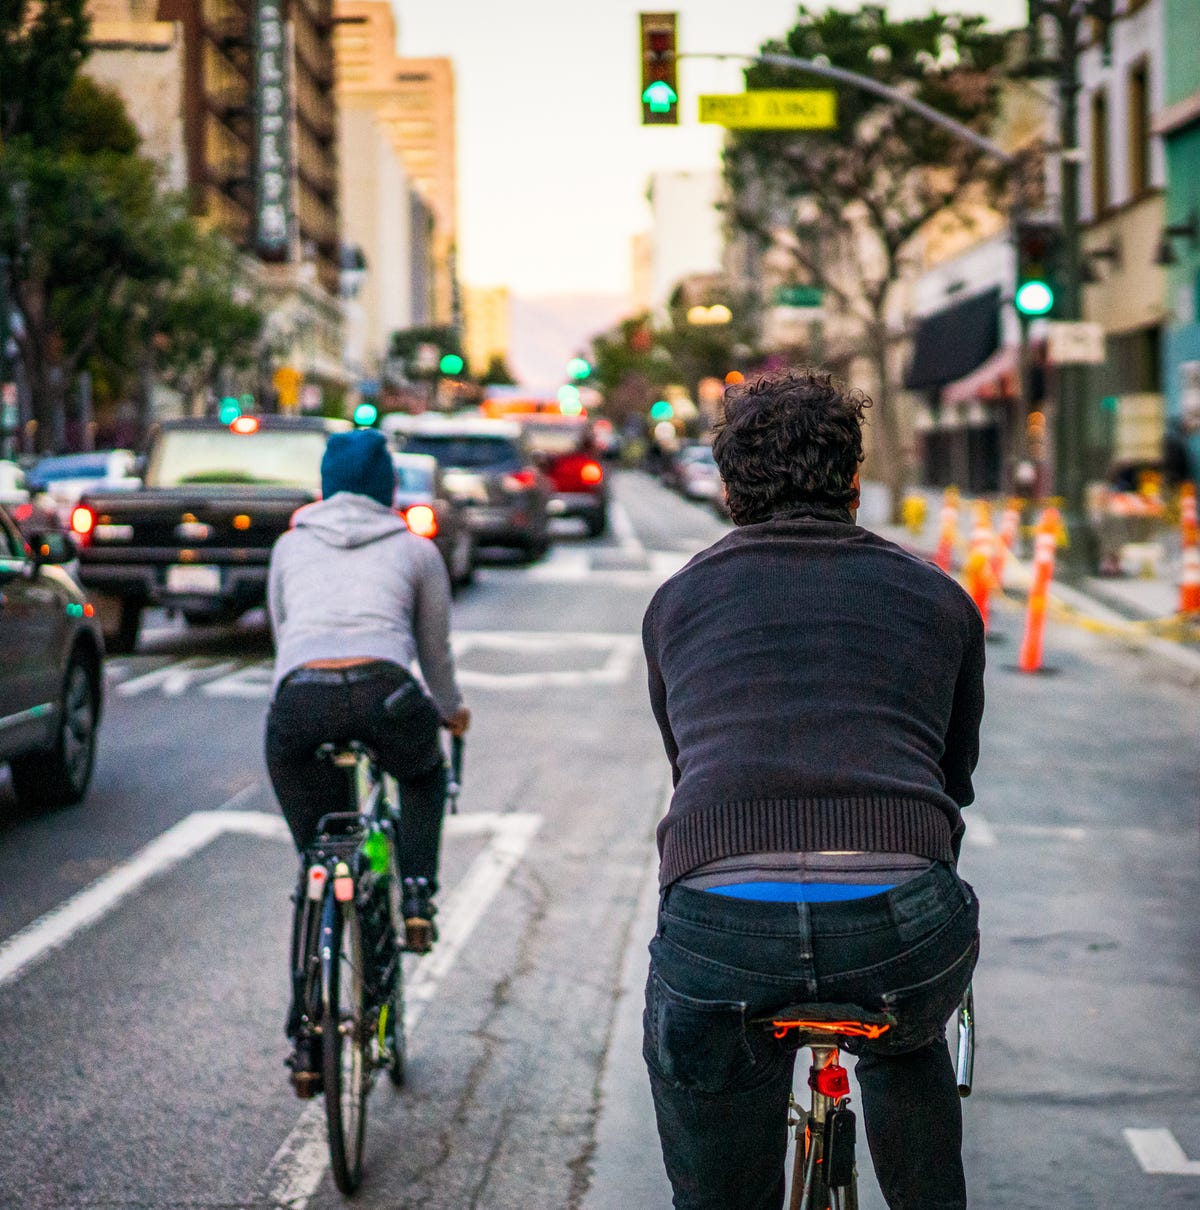
<path fill-rule="evenodd" d="M 550 482 L 518 425 L 425 413 L 392 414 L 381 427 L 399 453 L 438 460 L 445 491 L 466 508 L 479 546 L 512 547 L 530 560 L 546 554 Z"/>

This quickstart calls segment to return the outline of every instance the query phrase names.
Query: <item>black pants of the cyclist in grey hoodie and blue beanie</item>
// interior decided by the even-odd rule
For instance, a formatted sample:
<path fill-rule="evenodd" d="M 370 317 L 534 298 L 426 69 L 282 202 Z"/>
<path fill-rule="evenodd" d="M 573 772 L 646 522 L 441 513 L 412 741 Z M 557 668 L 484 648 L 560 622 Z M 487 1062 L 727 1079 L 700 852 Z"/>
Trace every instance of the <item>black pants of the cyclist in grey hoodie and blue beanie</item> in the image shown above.
<path fill-rule="evenodd" d="M 300 669 L 279 685 L 266 719 L 266 766 L 298 849 L 317 834 L 321 817 L 352 809 L 346 770 L 319 760 L 324 743 L 368 744 L 400 786 L 397 855 L 405 877 L 438 885 L 445 767 L 437 709 L 423 692 L 398 710 L 385 709 L 411 673 L 377 661 L 352 668 Z"/>

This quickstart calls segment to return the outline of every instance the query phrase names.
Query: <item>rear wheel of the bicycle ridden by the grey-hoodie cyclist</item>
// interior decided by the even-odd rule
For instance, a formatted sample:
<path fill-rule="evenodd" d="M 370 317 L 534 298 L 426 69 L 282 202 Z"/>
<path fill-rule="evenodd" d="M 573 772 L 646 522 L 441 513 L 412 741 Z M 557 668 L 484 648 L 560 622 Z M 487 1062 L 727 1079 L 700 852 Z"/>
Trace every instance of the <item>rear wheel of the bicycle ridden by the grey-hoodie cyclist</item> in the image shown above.
<path fill-rule="evenodd" d="M 363 933 L 353 903 L 325 897 L 322 951 L 328 955 L 322 1015 L 325 1123 L 334 1183 L 353 1193 L 363 1179 L 367 1094 L 370 1091 Z"/>

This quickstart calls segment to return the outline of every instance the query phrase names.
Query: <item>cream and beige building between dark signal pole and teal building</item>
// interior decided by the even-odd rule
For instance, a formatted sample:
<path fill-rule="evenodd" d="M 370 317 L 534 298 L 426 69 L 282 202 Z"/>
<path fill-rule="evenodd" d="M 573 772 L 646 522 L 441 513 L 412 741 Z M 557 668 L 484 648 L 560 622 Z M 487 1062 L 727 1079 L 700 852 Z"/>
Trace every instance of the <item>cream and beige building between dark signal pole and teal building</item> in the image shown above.
<path fill-rule="evenodd" d="M 1085 368 L 1089 479 L 1158 463 L 1164 437 L 1166 161 L 1152 126 L 1165 97 L 1162 0 L 1115 7 L 1107 46 L 1094 36 L 1079 56 L 1083 317 L 1103 327 L 1106 355 Z"/>

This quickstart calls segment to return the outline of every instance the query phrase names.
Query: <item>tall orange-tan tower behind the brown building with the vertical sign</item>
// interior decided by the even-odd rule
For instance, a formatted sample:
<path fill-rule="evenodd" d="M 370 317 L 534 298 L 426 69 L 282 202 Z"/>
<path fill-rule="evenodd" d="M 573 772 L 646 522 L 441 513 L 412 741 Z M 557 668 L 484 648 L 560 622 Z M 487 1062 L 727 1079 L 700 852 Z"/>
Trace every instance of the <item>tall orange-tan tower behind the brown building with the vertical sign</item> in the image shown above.
<path fill-rule="evenodd" d="M 460 322 L 454 67 L 397 53 L 387 0 L 336 0 L 338 103 L 368 109 L 387 132 L 433 219 L 432 321 Z"/>

